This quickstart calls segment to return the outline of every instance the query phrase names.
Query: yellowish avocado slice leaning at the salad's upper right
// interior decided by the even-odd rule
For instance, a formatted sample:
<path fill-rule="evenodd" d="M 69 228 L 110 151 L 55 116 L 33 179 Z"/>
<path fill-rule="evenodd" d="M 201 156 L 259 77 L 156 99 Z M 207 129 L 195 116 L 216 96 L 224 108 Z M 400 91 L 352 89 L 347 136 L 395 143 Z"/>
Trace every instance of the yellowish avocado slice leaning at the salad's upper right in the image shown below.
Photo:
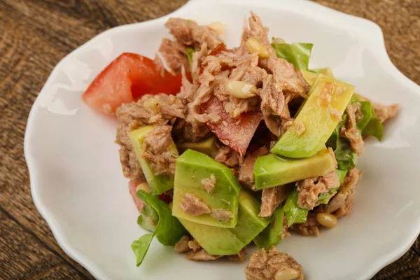
<path fill-rule="evenodd" d="M 288 158 L 315 155 L 341 120 L 353 92 L 353 85 L 320 74 L 293 125 L 277 141 L 272 153 Z"/>

